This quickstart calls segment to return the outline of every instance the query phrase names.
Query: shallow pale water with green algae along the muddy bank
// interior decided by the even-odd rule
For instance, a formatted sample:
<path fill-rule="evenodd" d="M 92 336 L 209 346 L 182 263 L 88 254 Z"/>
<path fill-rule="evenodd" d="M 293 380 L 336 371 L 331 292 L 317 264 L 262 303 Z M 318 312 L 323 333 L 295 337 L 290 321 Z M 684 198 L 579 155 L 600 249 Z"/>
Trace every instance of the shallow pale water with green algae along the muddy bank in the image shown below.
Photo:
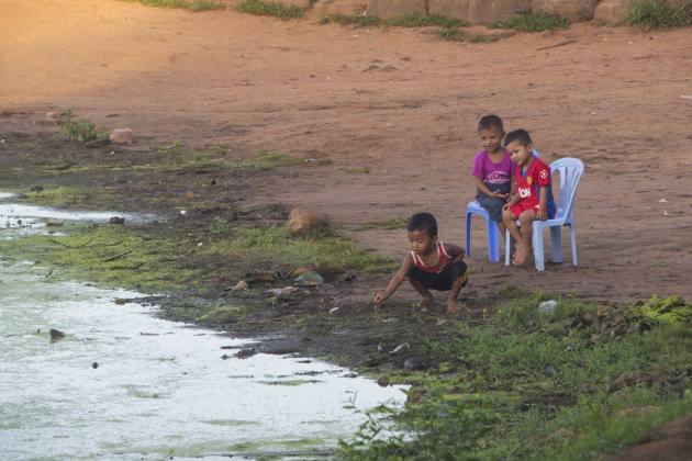
<path fill-rule="evenodd" d="M 156 318 L 154 307 L 126 301 L 139 293 L 55 280 L 45 267 L 8 261 L 1 239 L 46 232 L 45 217 L 113 215 L 18 210 L 0 202 L 1 459 L 328 452 L 365 420 L 343 408 L 349 400 L 369 408 L 405 397 L 401 387 L 316 360 L 235 358 L 253 341 Z M 52 328 L 65 336 L 52 340 Z"/>

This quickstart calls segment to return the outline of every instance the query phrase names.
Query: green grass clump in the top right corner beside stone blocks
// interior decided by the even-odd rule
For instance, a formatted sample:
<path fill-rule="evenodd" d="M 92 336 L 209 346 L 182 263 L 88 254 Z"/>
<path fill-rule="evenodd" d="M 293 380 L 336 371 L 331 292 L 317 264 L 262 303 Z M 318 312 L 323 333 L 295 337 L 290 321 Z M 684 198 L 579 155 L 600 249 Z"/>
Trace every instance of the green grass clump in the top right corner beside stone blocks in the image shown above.
<path fill-rule="evenodd" d="M 627 7 L 625 24 L 640 31 L 684 27 L 692 24 L 692 3 L 669 5 L 656 0 L 635 0 Z"/>

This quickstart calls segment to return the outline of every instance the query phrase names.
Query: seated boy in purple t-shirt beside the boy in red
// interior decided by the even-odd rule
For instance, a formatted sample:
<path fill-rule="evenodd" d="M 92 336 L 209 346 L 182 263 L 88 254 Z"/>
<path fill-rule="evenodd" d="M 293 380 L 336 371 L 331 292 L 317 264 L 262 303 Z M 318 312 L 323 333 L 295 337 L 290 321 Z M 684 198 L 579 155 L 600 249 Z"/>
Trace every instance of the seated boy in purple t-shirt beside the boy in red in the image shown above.
<path fill-rule="evenodd" d="M 504 236 L 506 227 L 502 222 L 502 207 L 514 189 L 514 164 L 502 147 L 505 135 L 502 120 L 496 115 L 483 116 L 478 123 L 478 134 L 483 150 L 476 155 L 471 172 L 478 187 L 476 200 L 488 211 Z"/>

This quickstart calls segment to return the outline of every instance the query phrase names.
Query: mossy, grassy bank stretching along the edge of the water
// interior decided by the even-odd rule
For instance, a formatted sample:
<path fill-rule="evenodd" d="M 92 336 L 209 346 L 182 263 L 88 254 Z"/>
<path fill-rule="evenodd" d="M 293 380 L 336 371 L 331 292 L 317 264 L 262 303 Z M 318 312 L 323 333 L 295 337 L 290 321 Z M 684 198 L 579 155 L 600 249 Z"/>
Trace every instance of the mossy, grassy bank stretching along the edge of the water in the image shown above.
<path fill-rule="evenodd" d="M 692 413 L 692 308 L 674 293 L 599 301 L 504 279 L 462 297 L 458 315 L 376 305 L 371 293 L 395 261 L 338 223 L 291 236 L 289 207 L 253 198 L 277 176 L 328 165 L 319 157 L 1 137 L 0 183 L 14 194 L 5 200 L 126 213 L 43 222 L 46 232 L 1 240 L 3 259 L 32 261 L 46 279 L 136 290 L 165 318 L 261 339 L 237 357 L 298 353 L 413 385 L 404 408 L 369 412 L 337 457 L 592 459 Z M 5 228 L 32 225 L 2 218 Z M 370 227 L 400 233 L 401 221 Z M 339 269 L 297 279 L 325 262 Z"/>

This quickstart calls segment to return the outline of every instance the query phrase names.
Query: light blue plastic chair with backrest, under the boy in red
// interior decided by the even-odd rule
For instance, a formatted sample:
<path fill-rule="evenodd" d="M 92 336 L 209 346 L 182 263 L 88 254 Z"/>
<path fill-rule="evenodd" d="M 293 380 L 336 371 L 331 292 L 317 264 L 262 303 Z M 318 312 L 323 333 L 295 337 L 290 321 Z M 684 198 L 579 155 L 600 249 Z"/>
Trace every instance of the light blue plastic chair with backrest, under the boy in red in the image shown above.
<path fill-rule="evenodd" d="M 577 266 L 577 239 L 574 236 L 574 218 L 572 206 L 574 205 L 574 194 L 577 185 L 584 172 L 584 164 L 578 158 L 560 158 L 550 164 L 550 175 L 560 173 L 560 198 L 558 209 L 553 220 L 535 220 L 533 226 L 534 262 L 536 270 L 545 270 L 543 256 L 543 229 L 550 228 L 550 249 L 553 262 L 562 262 L 562 226 L 569 226 L 572 240 L 572 265 Z M 518 222 L 517 222 L 518 223 Z M 510 265 L 510 232 L 507 231 L 505 240 L 504 263 Z"/>

